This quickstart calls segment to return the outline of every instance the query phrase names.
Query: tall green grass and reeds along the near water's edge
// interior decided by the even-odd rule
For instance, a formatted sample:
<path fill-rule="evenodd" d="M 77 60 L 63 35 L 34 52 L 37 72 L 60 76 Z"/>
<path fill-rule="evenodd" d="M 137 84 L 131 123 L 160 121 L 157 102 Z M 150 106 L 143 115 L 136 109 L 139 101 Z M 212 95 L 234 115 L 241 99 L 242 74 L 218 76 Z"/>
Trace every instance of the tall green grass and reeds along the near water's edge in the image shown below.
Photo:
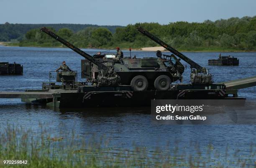
<path fill-rule="evenodd" d="M 82 168 L 82 167 L 254 167 L 255 144 L 251 150 L 237 150 L 226 146 L 223 151 L 211 144 L 189 147 L 166 144 L 164 150 L 134 145 L 133 149 L 110 146 L 111 140 L 87 139 L 76 136 L 51 137 L 43 130 L 33 132 L 8 125 L 0 135 L 0 167 L 26 168 Z M 173 144 L 172 144 L 173 145 Z M 231 150 L 231 152 L 230 152 Z M 232 154 L 230 154 L 232 153 Z M 6 165 L 4 160 L 27 160 L 26 165 Z"/>

